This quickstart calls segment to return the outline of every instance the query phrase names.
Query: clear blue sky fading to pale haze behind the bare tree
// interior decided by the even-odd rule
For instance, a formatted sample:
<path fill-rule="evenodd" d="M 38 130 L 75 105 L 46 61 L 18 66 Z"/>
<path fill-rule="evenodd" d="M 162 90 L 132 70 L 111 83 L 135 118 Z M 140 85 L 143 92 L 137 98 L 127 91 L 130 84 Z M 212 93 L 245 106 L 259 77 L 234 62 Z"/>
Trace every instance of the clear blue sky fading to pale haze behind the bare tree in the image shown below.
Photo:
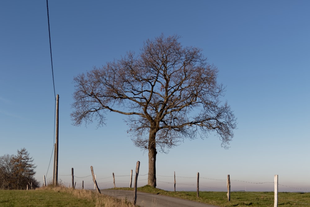
<path fill-rule="evenodd" d="M 310 191 L 310 1 L 50 0 L 48 6 L 63 183 L 69 185 L 74 168 L 77 187 L 82 180 L 91 187 L 92 165 L 100 188 L 113 187 L 112 173 L 130 175 L 139 160 L 139 185 L 147 184 L 148 152 L 127 136 L 126 116 L 110 113 L 98 129 L 72 125 L 73 77 L 139 52 L 163 33 L 202 48 L 218 67 L 238 129 L 228 150 L 210 135 L 157 154 L 157 187 L 172 190 L 175 171 L 177 190 L 196 190 L 199 172 L 201 190 L 225 191 L 230 174 L 232 190 L 272 191 L 278 174 L 280 191 Z M 0 155 L 25 147 L 40 182 L 52 178 L 54 112 L 46 1 L 0 1 Z M 261 182 L 267 183 L 255 184 Z M 129 186 L 129 176 L 116 177 L 116 185 Z"/>

